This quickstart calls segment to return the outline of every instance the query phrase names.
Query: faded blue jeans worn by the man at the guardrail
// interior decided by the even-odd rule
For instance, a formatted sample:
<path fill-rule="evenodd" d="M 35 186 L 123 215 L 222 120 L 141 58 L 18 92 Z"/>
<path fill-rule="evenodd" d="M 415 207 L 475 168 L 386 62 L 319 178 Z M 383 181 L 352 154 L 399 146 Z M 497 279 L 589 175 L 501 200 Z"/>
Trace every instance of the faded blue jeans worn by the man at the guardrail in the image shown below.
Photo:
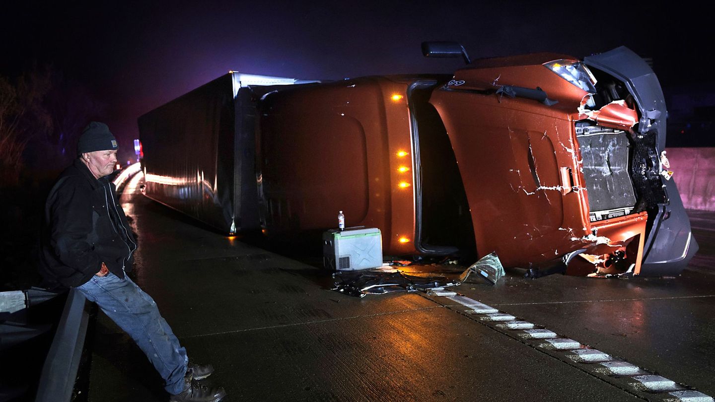
<path fill-rule="evenodd" d="M 113 273 L 94 275 L 77 289 L 134 339 L 164 378 L 167 392 L 175 395 L 184 390 L 189 362 L 186 349 L 179 345 L 151 296 L 139 289 L 129 276 L 120 279 Z"/>

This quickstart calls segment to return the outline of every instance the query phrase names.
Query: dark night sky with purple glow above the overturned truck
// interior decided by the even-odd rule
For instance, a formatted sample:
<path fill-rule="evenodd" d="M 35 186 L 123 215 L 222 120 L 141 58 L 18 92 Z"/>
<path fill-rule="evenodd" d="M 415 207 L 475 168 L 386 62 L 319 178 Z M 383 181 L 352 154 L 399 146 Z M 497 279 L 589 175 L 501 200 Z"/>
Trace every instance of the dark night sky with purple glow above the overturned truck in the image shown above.
<path fill-rule="evenodd" d="M 460 41 L 473 59 L 583 57 L 623 44 L 654 59 L 666 88 L 714 82 L 705 53 L 711 23 L 698 9 L 597 1 L 99 3 L 3 2 L 0 74 L 49 64 L 86 86 L 104 105 L 124 160 L 139 115 L 229 70 L 342 79 L 461 67 L 460 59 L 422 57 L 425 40 Z"/>

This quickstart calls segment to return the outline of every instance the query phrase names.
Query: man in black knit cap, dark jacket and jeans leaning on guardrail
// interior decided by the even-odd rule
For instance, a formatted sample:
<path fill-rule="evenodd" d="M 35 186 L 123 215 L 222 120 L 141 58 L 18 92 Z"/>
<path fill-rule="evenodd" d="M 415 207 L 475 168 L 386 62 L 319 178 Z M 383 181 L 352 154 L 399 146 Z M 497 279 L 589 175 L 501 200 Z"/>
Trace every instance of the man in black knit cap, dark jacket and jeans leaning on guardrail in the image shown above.
<path fill-rule="evenodd" d="M 127 276 L 137 242 L 106 177 L 117 163 L 117 139 L 107 124 L 89 123 L 77 155 L 47 197 L 41 275 L 47 285 L 76 288 L 126 331 L 164 378 L 169 401 L 220 401 L 223 388 L 197 383 L 212 366 L 188 363 L 154 300 Z"/>

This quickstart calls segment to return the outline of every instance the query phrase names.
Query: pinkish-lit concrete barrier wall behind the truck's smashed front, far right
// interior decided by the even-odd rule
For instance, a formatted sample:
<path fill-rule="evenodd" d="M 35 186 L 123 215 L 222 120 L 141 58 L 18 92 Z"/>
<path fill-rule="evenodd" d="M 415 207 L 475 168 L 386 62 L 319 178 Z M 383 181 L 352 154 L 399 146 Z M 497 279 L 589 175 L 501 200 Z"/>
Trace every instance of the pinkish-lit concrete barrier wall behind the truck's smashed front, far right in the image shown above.
<path fill-rule="evenodd" d="M 683 205 L 715 211 L 715 148 L 666 148 Z"/>

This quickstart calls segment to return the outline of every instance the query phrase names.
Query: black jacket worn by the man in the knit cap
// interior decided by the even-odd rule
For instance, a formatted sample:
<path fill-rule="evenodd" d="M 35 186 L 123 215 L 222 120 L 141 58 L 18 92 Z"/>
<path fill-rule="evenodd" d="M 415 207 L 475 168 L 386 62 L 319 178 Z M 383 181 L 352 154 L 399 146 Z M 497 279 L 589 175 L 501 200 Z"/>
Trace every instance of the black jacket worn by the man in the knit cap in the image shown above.
<path fill-rule="evenodd" d="M 137 250 L 117 188 L 75 160 L 50 190 L 40 235 L 39 273 L 49 288 L 74 288 L 99 272 L 124 278 Z M 58 286 L 59 285 L 59 286 Z"/>

